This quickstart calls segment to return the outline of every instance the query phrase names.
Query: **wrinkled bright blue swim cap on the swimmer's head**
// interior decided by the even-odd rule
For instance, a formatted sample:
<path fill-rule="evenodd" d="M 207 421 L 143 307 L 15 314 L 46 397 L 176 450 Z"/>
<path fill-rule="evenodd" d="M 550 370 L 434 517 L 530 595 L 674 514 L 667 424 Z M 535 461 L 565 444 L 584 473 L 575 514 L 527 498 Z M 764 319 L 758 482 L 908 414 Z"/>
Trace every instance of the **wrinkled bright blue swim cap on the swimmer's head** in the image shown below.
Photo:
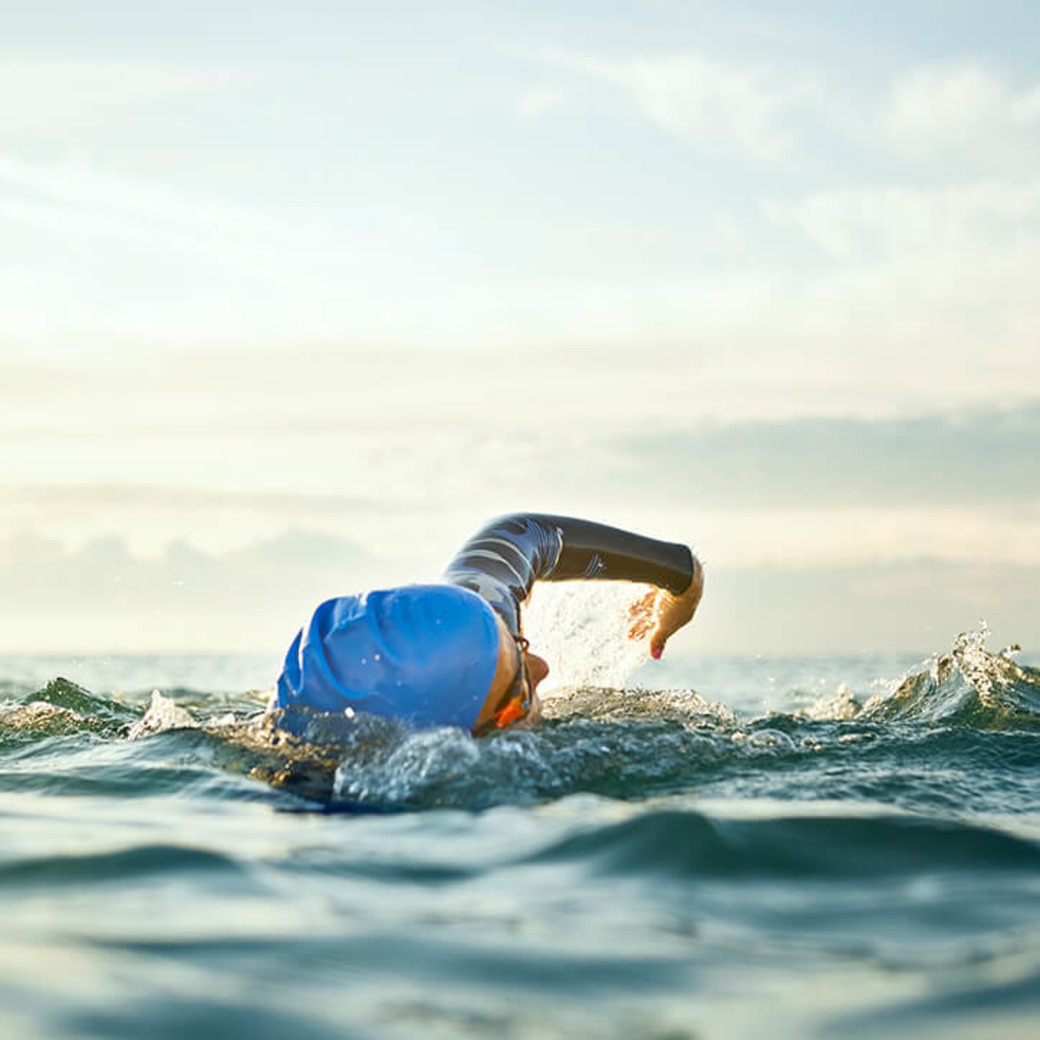
<path fill-rule="evenodd" d="M 289 647 L 278 707 L 350 707 L 472 729 L 495 677 L 498 638 L 488 603 L 457 586 L 326 600 Z"/>

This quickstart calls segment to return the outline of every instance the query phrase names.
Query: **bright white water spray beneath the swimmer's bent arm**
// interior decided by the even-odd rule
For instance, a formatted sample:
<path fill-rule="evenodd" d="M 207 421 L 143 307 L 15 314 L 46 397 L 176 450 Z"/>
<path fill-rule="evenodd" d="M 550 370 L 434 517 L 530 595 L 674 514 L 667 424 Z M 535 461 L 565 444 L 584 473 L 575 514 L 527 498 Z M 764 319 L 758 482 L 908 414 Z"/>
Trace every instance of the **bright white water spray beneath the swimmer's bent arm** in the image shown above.
<path fill-rule="evenodd" d="M 537 584 L 524 612 L 524 634 L 552 671 L 539 692 L 618 690 L 649 657 L 646 639 L 628 636 L 629 612 L 651 587 L 631 581 Z"/>

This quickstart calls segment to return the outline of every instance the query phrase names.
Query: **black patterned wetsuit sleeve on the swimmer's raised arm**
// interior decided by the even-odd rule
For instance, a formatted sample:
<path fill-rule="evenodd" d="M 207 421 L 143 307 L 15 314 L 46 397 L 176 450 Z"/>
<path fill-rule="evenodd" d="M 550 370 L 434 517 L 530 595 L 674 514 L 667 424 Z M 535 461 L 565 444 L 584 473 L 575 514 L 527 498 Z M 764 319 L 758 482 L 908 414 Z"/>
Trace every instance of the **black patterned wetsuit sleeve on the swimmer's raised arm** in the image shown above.
<path fill-rule="evenodd" d="M 477 531 L 448 564 L 444 580 L 483 596 L 510 630 L 536 581 L 645 581 L 682 593 L 694 576 L 688 546 L 570 517 L 519 513 Z"/>

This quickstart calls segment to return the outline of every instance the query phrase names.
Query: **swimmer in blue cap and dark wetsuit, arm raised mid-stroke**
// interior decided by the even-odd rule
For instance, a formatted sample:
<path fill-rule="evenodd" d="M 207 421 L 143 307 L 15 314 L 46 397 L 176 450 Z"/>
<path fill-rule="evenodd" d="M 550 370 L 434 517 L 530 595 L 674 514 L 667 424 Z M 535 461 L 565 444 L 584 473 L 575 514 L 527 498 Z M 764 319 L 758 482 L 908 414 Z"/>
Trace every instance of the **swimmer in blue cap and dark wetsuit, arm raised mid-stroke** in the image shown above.
<path fill-rule="evenodd" d="M 549 666 L 523 636 L 520 606 L 536 581 L 575 579 L 653 586 L 630 634 L 649 633 L 654 658 L 693 619 L 704 589 L 700 562 L 680 543 L 567 517 L 501 517 L 437 584 L 321 603 L 286 654 L 271 706 L 365 711 L 474 736 L 536 722 Z"/>

